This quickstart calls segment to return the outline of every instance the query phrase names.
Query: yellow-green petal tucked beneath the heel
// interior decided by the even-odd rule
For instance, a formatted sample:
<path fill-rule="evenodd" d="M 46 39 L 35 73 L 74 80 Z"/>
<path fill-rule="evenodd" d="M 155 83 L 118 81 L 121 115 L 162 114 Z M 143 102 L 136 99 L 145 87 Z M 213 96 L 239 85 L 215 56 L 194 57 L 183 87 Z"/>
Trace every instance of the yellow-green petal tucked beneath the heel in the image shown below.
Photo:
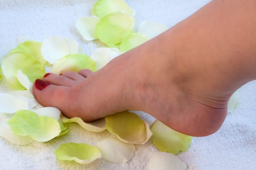
<path fill-rule="evenodd" d="M 153 132 L 151 140 L 159 151 L 173 154 L 184 152 L 192 140 L 191 136 L 178 133 L 158 120 L 155 120 L 150 129 Z"/>

